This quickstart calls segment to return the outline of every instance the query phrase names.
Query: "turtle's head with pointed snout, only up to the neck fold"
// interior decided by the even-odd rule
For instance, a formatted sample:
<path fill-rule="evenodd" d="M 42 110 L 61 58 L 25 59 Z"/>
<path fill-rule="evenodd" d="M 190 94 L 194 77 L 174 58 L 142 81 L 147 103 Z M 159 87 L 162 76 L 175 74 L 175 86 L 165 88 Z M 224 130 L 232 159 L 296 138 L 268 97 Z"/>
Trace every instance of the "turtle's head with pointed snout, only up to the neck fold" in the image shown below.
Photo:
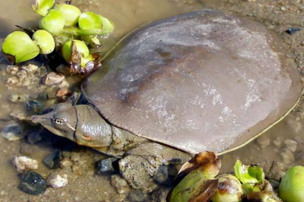
<path fill-rule="evenodd" d="M 59 104 L 55 109 L 44 115 L 31 117 L 33 123 L 40 123 L 52 133 L 75 141 L 77 113 L 73 106 Z"/>

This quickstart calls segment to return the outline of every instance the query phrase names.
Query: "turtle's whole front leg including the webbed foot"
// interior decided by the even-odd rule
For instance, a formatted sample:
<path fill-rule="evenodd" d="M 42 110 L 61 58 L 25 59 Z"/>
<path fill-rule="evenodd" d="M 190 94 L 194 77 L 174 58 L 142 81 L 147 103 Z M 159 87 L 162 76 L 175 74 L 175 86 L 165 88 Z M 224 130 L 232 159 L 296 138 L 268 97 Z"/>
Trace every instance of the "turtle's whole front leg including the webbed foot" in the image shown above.
<path fill-rule="evenodd" d="M 148 179 L 162 164 L 184 163 L 191 156 L 183 151 L 155 142 L 147 142 L 127 151 L 119 161 L 122 176 L 134 188 L 148 187 Z"/>

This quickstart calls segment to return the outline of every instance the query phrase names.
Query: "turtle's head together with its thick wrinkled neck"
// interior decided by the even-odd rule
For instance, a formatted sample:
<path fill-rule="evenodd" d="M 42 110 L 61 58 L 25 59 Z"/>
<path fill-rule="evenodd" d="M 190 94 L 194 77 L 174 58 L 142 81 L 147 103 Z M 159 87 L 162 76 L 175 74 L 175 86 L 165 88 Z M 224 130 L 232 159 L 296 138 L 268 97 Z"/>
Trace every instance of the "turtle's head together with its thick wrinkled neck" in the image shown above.
<path fill-rule="evenodd" d="M 111 126 L 89 105 L 59 104 L 48 114 L 32 116 L 31 120 L 80 145 L 106 148 L 112 142 Z"/>

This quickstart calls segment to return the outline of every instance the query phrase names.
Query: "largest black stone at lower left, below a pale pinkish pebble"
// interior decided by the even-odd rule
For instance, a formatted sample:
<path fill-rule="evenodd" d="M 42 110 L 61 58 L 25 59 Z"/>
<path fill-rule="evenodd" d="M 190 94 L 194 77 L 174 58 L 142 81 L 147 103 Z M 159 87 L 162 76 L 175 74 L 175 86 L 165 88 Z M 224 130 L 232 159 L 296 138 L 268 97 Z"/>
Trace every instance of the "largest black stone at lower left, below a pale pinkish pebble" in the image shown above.
<path fill-rule="evenodd" d="M 45 192 L 47 181 L 40 174 L 27 171 L 23 174 L 18 188 L 25 193 L 38 195 Z"/>

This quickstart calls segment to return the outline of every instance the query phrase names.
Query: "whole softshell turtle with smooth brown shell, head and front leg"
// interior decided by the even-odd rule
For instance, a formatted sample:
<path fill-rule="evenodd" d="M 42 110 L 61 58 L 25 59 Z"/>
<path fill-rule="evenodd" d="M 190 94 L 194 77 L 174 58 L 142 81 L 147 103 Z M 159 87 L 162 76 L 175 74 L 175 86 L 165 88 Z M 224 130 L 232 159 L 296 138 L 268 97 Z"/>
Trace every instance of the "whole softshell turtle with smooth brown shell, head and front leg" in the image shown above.
<path fill-rule="evenodd" d="M 265 26 L 213 10 L 142 26 L 82 83 L 90 105 L 33 116 L 53 133 L 122 158 L 145 187 L 158 167 L 223 154 L 281 120 L 301 93 L 294 60 Z"/>

